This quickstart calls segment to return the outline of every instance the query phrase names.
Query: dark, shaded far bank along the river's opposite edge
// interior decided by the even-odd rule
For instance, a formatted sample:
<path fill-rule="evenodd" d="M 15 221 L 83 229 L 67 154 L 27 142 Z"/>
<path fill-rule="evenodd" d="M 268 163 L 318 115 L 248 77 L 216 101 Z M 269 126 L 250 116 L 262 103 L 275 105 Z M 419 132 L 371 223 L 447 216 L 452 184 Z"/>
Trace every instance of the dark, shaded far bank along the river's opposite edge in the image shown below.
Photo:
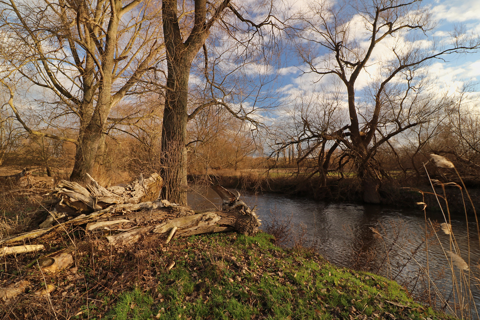
<path fill-rule="evenodd" d="M 237 190 L 254 193 L 271 192 L 288 197 L 303 197 L 315 201 L 334 201 L 363 203 L 361 182 L 359 178 L 327 178 L 325 187 L 320 186 L 318 177 L 306 178 L 302 175 L 291 174 L 259 174 L 257 172 L 222 172 L 209 174 L 208 177 L 199 174 L 190 174 L 192 183 L 219 183 L 220 185 Z M 435 192 L 445 196 L 449 209 L 453 212 L 464 213 L 464 202 L 467 203 L 467 213 L 474 213 L 469 204 L 467 194 L 461 181 L 453 176 L 446 180 L 444 176 L 431 176 L 444 183 L 455 182 L 457 185 L 446 185 L 445 193 L 440 185 L 434 186 Z M 474 206 L 480 207 L 480 186 L 476 180 L 464 181 Z M 461 188 L 459 188 L 460 186 Z M 423 193 L 419 192 L 423 191 Z M 380 187 L 381 204 L 404 208 L 419 208 L 417 202 L 424 202 L 428 211 L 440 211 L 437 198 L 432 194 L 432 185 L 427 177 L 400 179 L 384 179 Z M 441 200 L 441 198 L 440 198 Z M 445 201 L 441 200 L 442 208 L 446 209 Z"/>

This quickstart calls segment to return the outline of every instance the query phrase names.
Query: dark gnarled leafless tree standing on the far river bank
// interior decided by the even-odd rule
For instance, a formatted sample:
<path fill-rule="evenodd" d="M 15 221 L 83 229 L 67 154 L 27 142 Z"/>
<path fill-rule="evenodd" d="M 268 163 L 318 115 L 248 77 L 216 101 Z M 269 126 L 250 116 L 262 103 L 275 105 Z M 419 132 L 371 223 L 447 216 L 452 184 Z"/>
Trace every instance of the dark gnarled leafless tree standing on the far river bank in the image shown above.
<path fill-rule="evenodd" d="M 363 200 L 378 203 L 377 147 L 423 121 L 395 116 L 404 114 L 404 103 L 415 100 L 410 95 L 417 84 L 412 72 L 433 59 L 477 50 L 478 37 L 457 28 L 449 39 L 433 38 L 434 20 L 421 0 L 312 1 L 290 22 L 305 72 L 317 74 L 319 81 L 336 77 L 345 86 L 349 123 L 337 140 L 358 169 Z M 431 40 L 430 47 L 424 46 L 425 39 Z M 368 90 L 361 91 L 363 75 L 372 79 Z M 382 115 L 388 120 L 383 124 Z"/>

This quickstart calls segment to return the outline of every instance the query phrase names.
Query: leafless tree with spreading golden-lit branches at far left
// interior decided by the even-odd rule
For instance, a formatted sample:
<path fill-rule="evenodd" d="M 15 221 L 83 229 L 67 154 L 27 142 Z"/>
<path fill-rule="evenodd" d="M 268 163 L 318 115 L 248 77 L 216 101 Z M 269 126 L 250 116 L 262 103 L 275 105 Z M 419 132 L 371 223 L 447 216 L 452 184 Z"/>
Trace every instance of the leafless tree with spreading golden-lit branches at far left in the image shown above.
<path fill-rule="evenodd" d="M 71 180 L 85 181 L 103 149 L 110 110 L 165 53 L 156 1 L 2 0 L 1 83 L 29 134 L 76 145 Z M 34 88 L 34 107 L 46 95 L 47 121 L 64 119 L 77 137 L 32 128 L 14 103 L 21 77 Z M 18 90 L 18 91 L 17 91 Z M 133 117 L 138 115 L 132 115 Z"/>

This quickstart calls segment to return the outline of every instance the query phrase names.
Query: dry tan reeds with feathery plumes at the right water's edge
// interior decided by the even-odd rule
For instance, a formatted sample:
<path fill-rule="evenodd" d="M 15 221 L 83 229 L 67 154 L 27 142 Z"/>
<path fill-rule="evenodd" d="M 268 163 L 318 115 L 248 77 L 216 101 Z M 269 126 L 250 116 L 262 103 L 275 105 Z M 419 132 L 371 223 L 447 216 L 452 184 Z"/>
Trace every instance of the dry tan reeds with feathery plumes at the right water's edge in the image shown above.
<path fill-rule="evenodd" d="M 413 263 L 417 266 L 417 271 L 415 272 L 417 273 L 417 279 L 415 280 L 415 276 L 413 277 L 413 279 L 415 280 L 415 284 L 421 284 L 420 290 L 414 292 L 414 294 L 417 295 L 417 298 L 420 298 L 426 303 L 429 303 L 430 305 L 437 308 L 448 310 L 449 313 L 461 319 L 480 319 L 479 310 L 477 310 L 476 305 L 477 301 L 475 300 L 472 293 L 472 285 L 478 283 L 480 281 L 480 277 L 478 275 L 478 271 L 474 273 L 472 268 L 470 268 L 469 266 L 470 250 L 472 250 L 473 248 L 470 247 L 467 203 L 469 202 L 469 204 L 471 205 L 470 210 L 474 213 L 477 230 L 480 230 L 475 206 L 468 193 L 468 190 L 465 187 L 465 184 L 463 183 L 462 178 L 458 174 L 458 171 L 456 170 L 454 165 L 446 158 L 439 155 L 432 155 L 431 160 L 436 166 L 444 168 L 442 170 L 455 170 L 457 178 L 461 181 L 462 186 L 455 182 L 442 182 L 437 179 L 431 179 L 429 176 L 429 172 L 425 167 L 425 172 L 427 174 L 427 177 L 429 178 L 432 192 L 411 188 L 411 190 L 420 193 L 422 199 L 420 202 L 417 201 L 417 203 L 423 205 L 422 210 L 425 215 L 425 225 L 423 227 L 424 234 L 409 235 L 407 237 L 408 239 L 410 239 L 409 241 L 414 239 L 417 239 L 417 241 L 420 240 L 420 243 L 418 244 L 416 249 L 410 250 L 409 252 L 404 249 L 406 246 L 404 246 L 403 244 L 403 237 L 405 236 L 399 236 L 400 233 L 395 231 L 400 229 L 398 227 L 393 228 L 393 234 L 388 234 L 385 231 L 385 228 L 381 228 L 379 230 L 373 229 L 375 236 L 380 239 L 384 244 L 384 261 L 386 261 L 386 270 L 384 271 L 384 273 L 386 273 L 386 275 L 391 279 L 395 280 L 395 276 L 392 273 L 393 270 L 398 270 L 398 267 L 401 266 L 401 264 L 403 264 L 405 267 L 408 263 Z M 443 177 L 445 178 L 446 175 L 443 175 Z M 445 186 L 458 188 L 458 190 L 460 190 L 467 225 L 466 234 L 468 249 L 466 250 L 460 249 L 456 241 L 456 226 L 452 225 L 452 221 L 450 218 L 450 206 L 447 200 L 447 192 L 445 190 Z M 438 192 L 435 187 L 440 187 L 443 193 Z M 433 223 L 429 218 L 427 218 L 427 201 L 425 201 L 426 195 L 432 195 L 437 201 L 438 208 L 440 209 L 444 218 L 444 222 L 442 222 L 441 224 Z M 438 236 L 438 232 L 440 230 L 442 230 L 442 232 L 448 236 L 447 241 L 442 241 Z M 480 240 L 480 232 L 478 232 L 478 236 Z M 440 247 L 441 252 L 444 253 L 445 261 L 447 262 L 444 269 L 440 271 L 438 269 L 433 270 L 433 268 L 431 268 L 432 258 L 429 257 L 429 248 L 431 249 L 432 246 Z M 396 257 L 398 257 L 400 254 L 404 257 L 407 257 L 407 261 L 400 261 L 400 265 L 396 265 L 399 263 Z M 438 260 L 436 261 L 436 263 L 438 264 Z M 411 271 L 409 272 L 411 273 Z M 442 272 L 444 272 L 445 274 L 442 275 Z M 437 285 L 439 283 L 443 283 L 443 279 L 448 280 L 448 285 L 452 288 L 450 294 L 447 293 L 445 295 L 445 293 L 441 292 Z"/>

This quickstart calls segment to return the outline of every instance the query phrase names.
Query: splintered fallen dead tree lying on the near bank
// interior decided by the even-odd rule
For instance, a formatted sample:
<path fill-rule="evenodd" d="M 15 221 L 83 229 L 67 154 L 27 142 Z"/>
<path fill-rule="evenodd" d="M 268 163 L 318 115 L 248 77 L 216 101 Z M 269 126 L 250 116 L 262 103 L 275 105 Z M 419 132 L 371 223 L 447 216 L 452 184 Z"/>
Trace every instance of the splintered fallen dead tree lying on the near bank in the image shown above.
<path fill-rule="evenodd" d="M 44 242 L 60 241 L 60 238 L 66 241 L 73 228 L 84 230 L 89 237 L 105 237 L 118 247 L 135 243 L 146 234 L 159 238 L 224 231 L 253 235 L 260 225 L 254 211 L 220 186 L 213 189 L 223 199 L 223 210 L 195 212 L 156 199 L 162 187 L 162 179 L 157 174 L 140 177 L 125 187 L 104 188 L 91 180 L 86 188 L 62 180 L 47 194 L 54 197 L 54 209 L 47 220 L 36 230 L 0 239 L 2 252 L 29 252 L 26 248 L 38 250 L 35 245 Z M 15 246 L 22 248 L 5 249 Z"/>

